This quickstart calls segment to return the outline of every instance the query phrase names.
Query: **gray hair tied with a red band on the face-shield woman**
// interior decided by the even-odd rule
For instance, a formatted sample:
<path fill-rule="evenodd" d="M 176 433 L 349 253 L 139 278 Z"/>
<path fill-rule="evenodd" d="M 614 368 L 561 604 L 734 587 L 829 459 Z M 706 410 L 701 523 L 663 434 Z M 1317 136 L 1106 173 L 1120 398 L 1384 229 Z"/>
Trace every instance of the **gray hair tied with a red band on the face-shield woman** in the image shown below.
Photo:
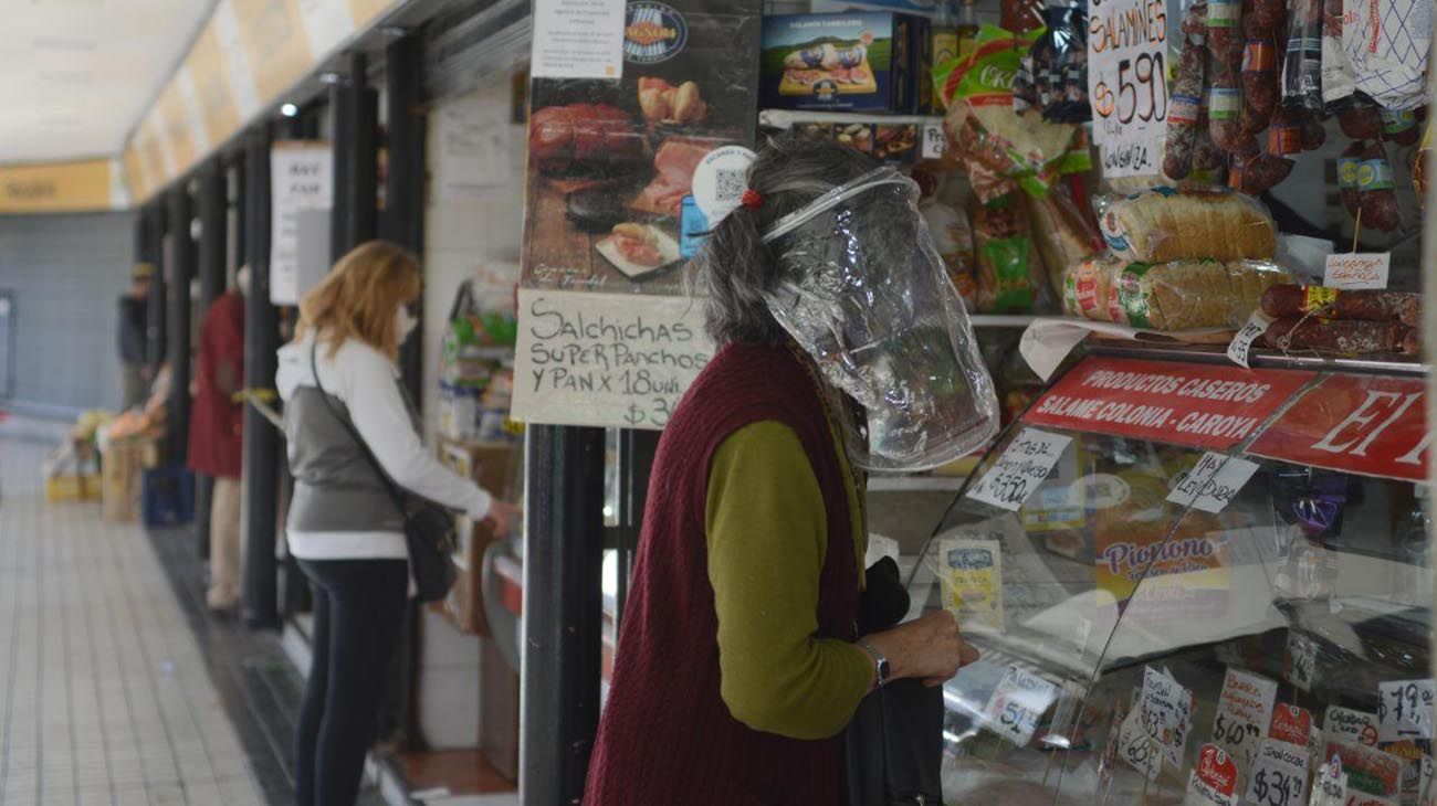
<path fill-rule="evenodd" d="M 697 290 L 706 298 L 704 328 L 716 344 L 783 340 L 783 328 L 763 298 L 782 271 L 763 234 L 785 215 L 879 165 L 833 142 L 805 141 L 793 133 L 764 139 L 749 169 L 749 188 L 762 196 L 763 205 L 734 209 L 694 258 Z"/>

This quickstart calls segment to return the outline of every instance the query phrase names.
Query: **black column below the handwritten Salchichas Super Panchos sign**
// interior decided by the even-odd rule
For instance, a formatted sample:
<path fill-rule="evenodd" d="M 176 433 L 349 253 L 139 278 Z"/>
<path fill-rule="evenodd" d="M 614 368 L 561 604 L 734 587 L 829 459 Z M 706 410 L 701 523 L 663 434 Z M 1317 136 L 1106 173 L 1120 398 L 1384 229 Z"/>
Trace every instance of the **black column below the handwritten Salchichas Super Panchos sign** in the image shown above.
<path fill-rule="evenodd" d="M 604 430 L 527 432 L 520 802 L 578 803 L 599 724 Z"/>

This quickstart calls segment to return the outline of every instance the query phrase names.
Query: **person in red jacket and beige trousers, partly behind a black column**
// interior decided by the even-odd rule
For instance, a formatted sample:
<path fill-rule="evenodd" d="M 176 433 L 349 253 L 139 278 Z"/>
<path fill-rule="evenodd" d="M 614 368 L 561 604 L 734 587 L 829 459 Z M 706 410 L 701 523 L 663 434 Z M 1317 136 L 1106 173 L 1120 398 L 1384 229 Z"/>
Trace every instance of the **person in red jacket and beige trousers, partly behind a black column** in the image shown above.
<path fill-rule="evenodd" d="M 227 612 L 240 601 L 240 468 L 244 406 L 234 393 L 244 389 L 244 291 L 249 267 L 236 272 L 233 288 L 221 294 L 200 326 L 194 410 L 190 416 L 188 465 L 214 476 L 210 499 L 210 592 L 214 611 Z"/>

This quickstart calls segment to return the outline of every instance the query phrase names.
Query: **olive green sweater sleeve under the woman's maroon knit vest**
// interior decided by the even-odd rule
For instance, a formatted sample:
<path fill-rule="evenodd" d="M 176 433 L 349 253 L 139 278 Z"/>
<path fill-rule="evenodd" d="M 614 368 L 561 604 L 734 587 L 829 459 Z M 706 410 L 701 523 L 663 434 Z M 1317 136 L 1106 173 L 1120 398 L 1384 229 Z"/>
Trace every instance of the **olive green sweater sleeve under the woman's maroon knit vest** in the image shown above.
<path fill-rule="evenodd" d="M 838 455 L 854 523 L 852 544 L 841 548 L 856 552 L 862 569 L 864 512 L 842 443 Z M 706 508 L 724 704 L 754 730 L 836 736 L 868 693 L 874 663 L 848 641 L 815 635 L 828 518 L 793 429 L 766 420 L 730 435 L 710 466 Z"/>

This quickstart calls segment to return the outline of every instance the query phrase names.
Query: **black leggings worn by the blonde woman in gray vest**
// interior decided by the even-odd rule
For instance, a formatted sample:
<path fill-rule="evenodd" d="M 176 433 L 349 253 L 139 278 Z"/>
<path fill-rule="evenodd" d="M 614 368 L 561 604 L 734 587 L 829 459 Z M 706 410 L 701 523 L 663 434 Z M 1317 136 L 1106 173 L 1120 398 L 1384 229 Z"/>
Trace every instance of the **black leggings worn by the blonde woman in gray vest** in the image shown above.
<path fill-rule="evenodd" d="M 410 568 L 402 559 L 300 559 L 315 584 L 315 660 L 295 737 L 299 806 L 354 806 L 398 651 Z"/>

